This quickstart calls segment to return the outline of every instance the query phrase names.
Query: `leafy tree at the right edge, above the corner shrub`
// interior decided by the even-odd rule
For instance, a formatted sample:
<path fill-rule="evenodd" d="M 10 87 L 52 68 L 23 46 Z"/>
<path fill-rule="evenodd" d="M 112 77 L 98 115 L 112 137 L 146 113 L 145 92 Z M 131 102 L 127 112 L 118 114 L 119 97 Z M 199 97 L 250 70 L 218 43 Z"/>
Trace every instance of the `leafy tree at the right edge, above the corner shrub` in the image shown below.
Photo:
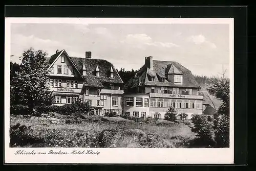
<path fill-rule="evenodd" d="M 212 78 L 207 90 L 222 101 L 218 113 L 229 115 L 229 79 L 224 77 Z"/>

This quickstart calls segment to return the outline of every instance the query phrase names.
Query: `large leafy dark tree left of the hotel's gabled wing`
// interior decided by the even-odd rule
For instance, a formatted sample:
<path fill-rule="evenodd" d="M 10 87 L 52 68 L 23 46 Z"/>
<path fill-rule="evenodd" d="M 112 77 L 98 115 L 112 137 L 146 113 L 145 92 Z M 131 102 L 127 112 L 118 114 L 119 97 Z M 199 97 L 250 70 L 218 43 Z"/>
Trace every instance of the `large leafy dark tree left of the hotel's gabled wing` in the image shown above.
<path fill-rule="evenodd" d="M 13 77 L 11 94 L 19 97 L 19 104 L 28 106 L 29 114 L 34 114 L 36 105 L 51 105 L 52 92 L 47 85 L 48 67 L 45 63 L 47 54 L 33 48 L 22 55 L 19 71 Z"/>

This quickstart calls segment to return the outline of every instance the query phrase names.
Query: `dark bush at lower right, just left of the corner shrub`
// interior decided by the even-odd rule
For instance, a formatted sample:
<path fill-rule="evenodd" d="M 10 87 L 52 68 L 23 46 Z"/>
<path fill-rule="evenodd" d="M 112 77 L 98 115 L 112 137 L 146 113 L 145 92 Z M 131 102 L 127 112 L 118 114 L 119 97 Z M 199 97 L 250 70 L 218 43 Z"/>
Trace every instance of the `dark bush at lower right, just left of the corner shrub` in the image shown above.
<path fill-rule="evenodd" d="M 215 146 L 214 140 L 214 123 L 208 121 L 208 117 L 205 115 L 194 115 L 192 118 L 194 128 L 191 130 L 197 133 L 198 143 L 201 145 Z"/>

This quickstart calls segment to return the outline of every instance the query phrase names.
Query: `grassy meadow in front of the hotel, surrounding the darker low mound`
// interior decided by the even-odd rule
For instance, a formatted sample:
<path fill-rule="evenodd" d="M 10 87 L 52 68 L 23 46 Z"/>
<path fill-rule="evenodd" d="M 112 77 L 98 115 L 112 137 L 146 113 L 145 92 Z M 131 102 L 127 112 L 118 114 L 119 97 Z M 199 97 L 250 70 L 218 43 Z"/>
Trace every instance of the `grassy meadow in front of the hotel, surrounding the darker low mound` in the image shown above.
<path fill-rule="evenodd" d="M 98 147 L 97 137 L 105 129 L 140 129 L 147 135 L 157 136 L 174 148 L 186 147 L 188 145 L 186 141 L 195 138 L 195 134 L 188 126 L 168 121 L 157 121 L 152 124 L 139 124 L 134 121 L 98 121 L 98 123 L 82 121 L 78 124 L 51 124 L 49 120 L 42 117 L 11 116 L 10 118 L 11 127 L 18 123 L 28 127 L 24 132 L 12 131 L 10 145 L 13 147 Z M 61 120 L 64 122 L 65 117 Z"/>

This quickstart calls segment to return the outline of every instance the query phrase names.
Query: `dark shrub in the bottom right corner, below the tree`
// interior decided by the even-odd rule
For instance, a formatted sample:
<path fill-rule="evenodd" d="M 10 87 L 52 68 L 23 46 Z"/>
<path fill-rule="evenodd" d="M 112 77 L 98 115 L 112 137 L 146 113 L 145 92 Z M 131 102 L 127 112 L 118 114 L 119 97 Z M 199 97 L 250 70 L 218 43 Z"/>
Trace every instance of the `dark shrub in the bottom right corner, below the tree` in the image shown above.
<path fill-rule="evenodd" d="M 229 117 L 219 115 L 215 121 L 215 140 L 219 147 L 229 147 Z"/>

